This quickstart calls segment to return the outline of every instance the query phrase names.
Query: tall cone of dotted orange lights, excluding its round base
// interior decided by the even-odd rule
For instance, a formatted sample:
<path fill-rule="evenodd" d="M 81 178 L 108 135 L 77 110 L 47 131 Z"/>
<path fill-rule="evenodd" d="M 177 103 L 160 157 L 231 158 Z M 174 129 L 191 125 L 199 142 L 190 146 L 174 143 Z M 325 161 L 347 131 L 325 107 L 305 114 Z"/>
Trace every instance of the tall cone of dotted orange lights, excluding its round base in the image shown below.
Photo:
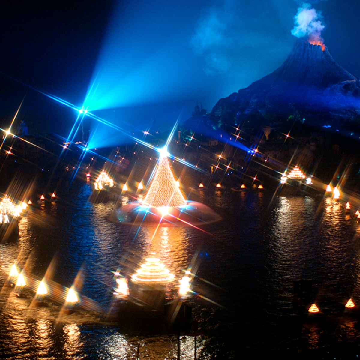
<path fill-rule="evenodd" d="M 151 207 L 186 205 L 183 194 L 181 194 L 179 187 L 176 186 L 176 181 L 166 156 L 162 156 L 159 159 L 157 170 L 143 204 Z"/>

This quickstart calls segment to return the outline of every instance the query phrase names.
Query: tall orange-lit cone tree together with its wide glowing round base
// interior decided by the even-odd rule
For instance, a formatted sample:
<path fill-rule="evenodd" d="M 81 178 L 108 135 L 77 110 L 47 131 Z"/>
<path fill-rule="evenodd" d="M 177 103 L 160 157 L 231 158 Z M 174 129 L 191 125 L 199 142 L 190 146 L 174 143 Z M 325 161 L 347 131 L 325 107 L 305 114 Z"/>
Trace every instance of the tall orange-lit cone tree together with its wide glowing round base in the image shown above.
<path fill-rule="evenodd" d="M 176 225 L 201 225 L 221 219 L 206 205 L 186 201 L 172 174 L 167 156 L 159 158 L 157 169 L 143 201 L 134 201 L 116 210 L 118 221 Z"/>

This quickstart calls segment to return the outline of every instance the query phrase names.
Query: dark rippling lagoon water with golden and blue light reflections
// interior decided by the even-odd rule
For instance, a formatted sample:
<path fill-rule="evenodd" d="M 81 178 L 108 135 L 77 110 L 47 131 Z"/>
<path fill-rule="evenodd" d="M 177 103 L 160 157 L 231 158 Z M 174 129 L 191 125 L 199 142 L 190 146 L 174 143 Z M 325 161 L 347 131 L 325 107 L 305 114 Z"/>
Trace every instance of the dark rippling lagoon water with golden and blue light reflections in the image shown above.
<path fill-rule="evenodd" d="M 198 324 L 198 359 L 237 359 L 256 352 L 301 354 L 334 345 L 357 346 L 360 326 L 345 311 L 360 304 L 360 225 L 328 197 L 212 190 L 191 198 L 222 220 L 201 229 L 112 222 L 114 202 L 93 204 L 88 184 L 33 208 L 19 223 L 19 241 L 0 245 L 0 282 L 16 261 L 29 279 L 45 273 L 61 289 L 76 279 L 82 307 L 64 312 L 62 292 L 34 306 L 2 286 L 0 354 L 7 359 L 176 359 L 176 336 L 132 331 L 108 316 L 113 273 L 131 275 L 155 252 L 175 274 L 193 264 L 190 299 Z M 123 203 L 129 198 L 122 198 Z M 309 302 L 321 314 L 293 305 L 293 282 L 311 280 Z M 35 285 L 33 285 L 35 286 Z M 175 296 L 169 284 L 168 298 Z M 181 337 L 181 359 L 194 359 L 194 337 Z M 355 353 L 354 353 L 355 354 Z"/>

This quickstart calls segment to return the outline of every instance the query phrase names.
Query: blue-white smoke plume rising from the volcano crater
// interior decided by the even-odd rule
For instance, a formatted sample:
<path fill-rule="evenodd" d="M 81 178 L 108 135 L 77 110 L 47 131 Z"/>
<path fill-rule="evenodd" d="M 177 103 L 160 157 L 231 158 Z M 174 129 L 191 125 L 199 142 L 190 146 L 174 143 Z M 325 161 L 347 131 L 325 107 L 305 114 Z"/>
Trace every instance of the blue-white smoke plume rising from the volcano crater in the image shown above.
<path fill-rule="evenodd" d="M 307 36 L 309 42 L 322 43 L 321 31 L 324 30 L 325 26 L 321 21 L 321 12 L 311 8 L 310 4 L 304 3 L 298 8 L 295 16 L 295 26 L 291 33 L 296 37 Z"/>

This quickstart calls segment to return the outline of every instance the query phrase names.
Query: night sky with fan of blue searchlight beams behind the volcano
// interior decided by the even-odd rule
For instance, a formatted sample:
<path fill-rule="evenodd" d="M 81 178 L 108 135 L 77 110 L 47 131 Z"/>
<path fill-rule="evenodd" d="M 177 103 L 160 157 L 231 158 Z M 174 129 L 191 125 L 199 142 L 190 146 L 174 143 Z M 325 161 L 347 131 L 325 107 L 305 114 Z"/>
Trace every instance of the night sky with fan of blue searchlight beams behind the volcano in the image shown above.
<path fill-rule="evenodd" d="M 360 3 L 309 1 L 330 54 L 360 77 Z M 2 3 L 0 121 L 66 135 L 76 111 L 129 127 L 171 127 L 278 68 L 296 37 L 294 0 Z M 90 92 L 91 85 L 96 92 Z M 34 90 L 36 89 L 36 90 Z M 94 87 L 93 87 L 94 89 Z M 85 101 L 87 94 L 90 96 Z M 111 114 L 110 114 L 111 112 Z M 94 125 L 94 124 L 93 124 Z M 142 129 L 141 129 L 142 130 Z M 106 136 L 106 134 L 102 134 Z"/>

